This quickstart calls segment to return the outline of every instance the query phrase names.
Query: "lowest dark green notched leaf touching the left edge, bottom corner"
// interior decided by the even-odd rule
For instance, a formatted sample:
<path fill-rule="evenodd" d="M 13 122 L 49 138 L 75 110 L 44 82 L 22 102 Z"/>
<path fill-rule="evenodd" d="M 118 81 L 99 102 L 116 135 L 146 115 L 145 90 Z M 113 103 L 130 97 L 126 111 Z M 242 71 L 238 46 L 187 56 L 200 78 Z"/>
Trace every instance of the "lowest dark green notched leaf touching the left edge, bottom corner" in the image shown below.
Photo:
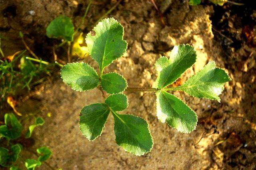
<path fill-rule="evenodd" d="M 4 167 L 11 166 L 20 154 L 22 146 L 20 144 L 15 144 L 11 146 L 11 151 L 8 149 L 0 147 L 0 165 Z"/>

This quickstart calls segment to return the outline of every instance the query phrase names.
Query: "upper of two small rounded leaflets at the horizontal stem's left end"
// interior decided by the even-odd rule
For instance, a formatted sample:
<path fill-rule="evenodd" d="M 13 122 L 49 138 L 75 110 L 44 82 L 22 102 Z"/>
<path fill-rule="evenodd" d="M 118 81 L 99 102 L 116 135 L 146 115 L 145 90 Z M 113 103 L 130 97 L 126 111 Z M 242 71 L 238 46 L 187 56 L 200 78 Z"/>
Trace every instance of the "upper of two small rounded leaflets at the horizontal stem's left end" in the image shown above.
<path fill-rule="evenodd" d="M 127 82 L 123 76 L 112 72 L 102 75 L 101 86 L 107 93 L 116 94 L 127 88 Z"/>

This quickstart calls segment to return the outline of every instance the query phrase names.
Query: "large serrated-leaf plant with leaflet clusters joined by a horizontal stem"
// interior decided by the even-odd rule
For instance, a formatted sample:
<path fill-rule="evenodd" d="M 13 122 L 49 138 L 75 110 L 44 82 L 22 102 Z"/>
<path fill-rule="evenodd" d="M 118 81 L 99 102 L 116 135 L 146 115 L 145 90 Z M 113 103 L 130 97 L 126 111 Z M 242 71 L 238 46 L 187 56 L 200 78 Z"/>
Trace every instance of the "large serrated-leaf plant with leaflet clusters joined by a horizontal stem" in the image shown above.
<path fill-rule="evenodd" d="M 99 72 L 89 64 L 76 62 L 62 67 L 61 77 L 73 90 L 84 92 L 98 87 L 102 91 L 104 102 L 85 106 L 80 113 L 80 130 L 88 140 L 93 141 L 102 134 L 111 113 L 114 116 L 116 143 L 127 152 L 141 156 L 150 152 L 153 139 L 146 120 L 119 113 L 128 107 L 124 90 L 154 92 L 158 119 L 180 132 L 190 133 L 196 128 L 196 113 L 169 91 L 181 90 L 197 98 L 220 102 L 219 95 L 230 78 L 224 70 L 216 68 L 215 62 L 210 61 L 181 86 L 170 87 L 196 62 L 192 46 L 178 45 L 174 46 L 169 58 L 163 56 L 156 61 L 158 77 L 155 88 L 128 88 L 120 74 L 104 72 L 104 68 L 126 52 L 127 43 L 123 35 L 124 28 L 114 18 L 100 21 L 86 36 L 89 54 L 98 63 Z"/>

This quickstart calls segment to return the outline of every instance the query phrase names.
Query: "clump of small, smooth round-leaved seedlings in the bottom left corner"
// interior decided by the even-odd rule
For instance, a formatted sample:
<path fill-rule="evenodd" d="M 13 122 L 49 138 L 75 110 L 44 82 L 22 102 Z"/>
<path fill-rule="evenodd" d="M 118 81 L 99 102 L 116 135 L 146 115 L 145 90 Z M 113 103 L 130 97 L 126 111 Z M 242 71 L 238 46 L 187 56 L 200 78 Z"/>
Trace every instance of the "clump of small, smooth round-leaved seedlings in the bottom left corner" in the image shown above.
<path fill-rule="evenodd" d="M 44 119 L 41 117 L 34 118 L 34 124 L 30 125 L 25 132 L 25 138 L 30 138 L 36 126 L 42 126 Z M 4 125 L 0 126 L 0 140 L 6 140 L 7 147 L 0 147 L 0 166 L 10 167 L 10 170 L 20 170 L 18 168 L 18 159 L 24 162 L 24 166 L 28 170 L 34 170 L 41 166 L 42 162 L 48 160 L 52 155 L 52 151 L 47 147 L 40 147 L 36 150 L 38 159 L 24 160 L 20 156 L 20 152 L 24 149 L 22 144 L 16 143 L 22 137 L 22 124 L 13 113 L 6 113 L 4 115 Z M 2 142 L 4 143 L 4 142 Z"/>

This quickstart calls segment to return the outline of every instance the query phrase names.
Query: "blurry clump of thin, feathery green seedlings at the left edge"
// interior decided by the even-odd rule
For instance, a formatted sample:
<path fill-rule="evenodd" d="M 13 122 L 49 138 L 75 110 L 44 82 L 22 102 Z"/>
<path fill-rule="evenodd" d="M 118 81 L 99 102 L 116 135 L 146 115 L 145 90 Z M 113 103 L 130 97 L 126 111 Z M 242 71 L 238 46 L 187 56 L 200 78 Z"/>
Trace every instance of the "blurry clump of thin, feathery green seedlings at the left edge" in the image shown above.
<path fill-rule="evenodd" d="M 1 103 L 6 96 L 16 94 L 18 89 L 27 88 L 40 82 L 40 74 L 49 74 L 45 64 L 34 64 L 25 56 L 26 50 L 9 60 L 7 57 L 0 59 L 0 94 Z"/>

